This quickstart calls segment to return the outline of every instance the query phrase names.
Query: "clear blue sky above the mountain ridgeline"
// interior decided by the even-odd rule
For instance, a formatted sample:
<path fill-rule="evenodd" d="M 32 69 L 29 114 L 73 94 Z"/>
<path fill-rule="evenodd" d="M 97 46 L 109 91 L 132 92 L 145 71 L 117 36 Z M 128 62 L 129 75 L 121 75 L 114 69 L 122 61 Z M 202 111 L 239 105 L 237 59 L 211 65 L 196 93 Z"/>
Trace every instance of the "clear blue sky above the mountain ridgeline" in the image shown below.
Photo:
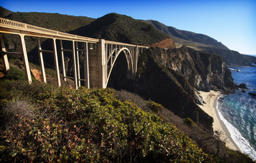
<path fill-rule="evenodd" d="M 1 0 L 12 12 L 48 12 L 100 18 L 111 12 L 157 20 L 176 29 L 208 35 L 230 50 L 256 54 L 255 0 Z"/>

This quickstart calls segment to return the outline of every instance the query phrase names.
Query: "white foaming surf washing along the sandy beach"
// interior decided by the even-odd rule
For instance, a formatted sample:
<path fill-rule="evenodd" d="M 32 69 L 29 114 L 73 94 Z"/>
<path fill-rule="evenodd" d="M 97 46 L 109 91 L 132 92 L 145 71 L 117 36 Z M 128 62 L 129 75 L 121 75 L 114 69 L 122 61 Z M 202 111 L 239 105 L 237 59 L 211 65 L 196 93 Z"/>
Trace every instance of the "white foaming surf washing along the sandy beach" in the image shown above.
<path fill-rule="evenodd" d="M 220 97 L 218 97 L 220 98 Z M 218 109 L 219 103 L 217 99 L 217 105 L 216 105 L 216 110 L 218 112 L 218 115 L 220 119 L 223 121 L 227 129 L 229 130 L 229 133 L 231 134 L 231 139 L 236 143 L 236 145 L 239 147 L 240 151 L 242 153 L 247 154 L 250 158 L 252 158 L 254 161 L 256 161 L 256 150 L 250 145 L 248 140 L 246 140 L 244 137 L 242 137 L 242 134 L 239 132 L 239 130 L 234 127 L 232 124 L 227 122 L 225 117 L 223 117 L 221 111 Z"/>

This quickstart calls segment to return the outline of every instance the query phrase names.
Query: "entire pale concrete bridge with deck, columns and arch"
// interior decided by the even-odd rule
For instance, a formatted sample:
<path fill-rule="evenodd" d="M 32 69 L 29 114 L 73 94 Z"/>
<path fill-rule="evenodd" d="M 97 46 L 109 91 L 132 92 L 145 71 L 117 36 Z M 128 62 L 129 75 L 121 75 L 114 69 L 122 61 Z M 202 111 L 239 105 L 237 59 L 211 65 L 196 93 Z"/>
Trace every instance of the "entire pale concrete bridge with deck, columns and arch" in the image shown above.
<path fill-rule="evenodd" d="M 6 50 L 3 40 L 3 33 L 19 35 L 21 47 L 20 52 L 8 52 Z M 113 69 L 113 65 L 115 64 L 115 60 L 121 53 L 125 54 L 128 65 L 126 77 L 130 79 L 134 78 L 137 73 L 138 56 L 141 52 L 143 52 L 145 48 L 147 48 L 147 46 L 137 46 L 128 43 L 120 43 L 115 41 L 107 41 L 104 39 L 94 39 L 89 37 L 82 37 L 79 35 L 72 35 L 51 29 L 44 29 L 39 26 L 33 26 L 22 22 L 16 22 L 14 20 L 0 18 L 1 56 L 3 58 L 5 71 L 10 69 L 8 54 L 22 55 L 25 73 L 29 83 L 31 83 L 32 80 L 29 69 L 29 60 L 27 57 L 25 36 L 37 37 L 38 39 L 38 55 L 40 59 L 42 81 L 45 83 L 46 73 L 44 69 L 43 53 L 53 54 L 55 60 L 57 86 L 61 86 L 61 75 L 59 72 L 59 60 L 56 43 L 56 41 L 59 40 L 62 77 L 65 81 L 67 78 L 74 79 L 74 87 L 76 89 L 81 86 L 81 81 L 84 81 L 85 87 L 87 88 L 106 88 L 109 82 L 111 71 Z M 42 50 L 40 37 L 52 39 L 53 50 Z M 72 49 L 64 49 L 63 41 L 68 41 L 68 43 L 70 43 L 72 46 Z M 73 77 L 68 77 L 66 75 L 64 56 L 67 53 L 72 53 L 74 67 Z M 83 67 L 82 72 L 80 69 L 81 66 Z M 81 78 L 81 73 L 83 73 L 83 79 Z"/>

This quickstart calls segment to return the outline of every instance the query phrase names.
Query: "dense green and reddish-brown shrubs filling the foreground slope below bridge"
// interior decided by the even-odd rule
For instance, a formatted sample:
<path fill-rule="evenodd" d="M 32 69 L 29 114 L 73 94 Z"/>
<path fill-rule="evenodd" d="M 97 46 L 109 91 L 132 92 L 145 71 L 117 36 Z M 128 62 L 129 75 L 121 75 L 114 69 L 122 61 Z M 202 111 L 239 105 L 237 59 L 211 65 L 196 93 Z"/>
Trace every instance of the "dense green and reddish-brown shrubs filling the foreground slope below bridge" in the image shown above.
<path fill-rule="evenodd" d="M 3 80 L 0 89 L 1 162 L 211 162 L 180 130 L 112 89 Z M 15 103 L 30 111 L 12 111 Z"/>

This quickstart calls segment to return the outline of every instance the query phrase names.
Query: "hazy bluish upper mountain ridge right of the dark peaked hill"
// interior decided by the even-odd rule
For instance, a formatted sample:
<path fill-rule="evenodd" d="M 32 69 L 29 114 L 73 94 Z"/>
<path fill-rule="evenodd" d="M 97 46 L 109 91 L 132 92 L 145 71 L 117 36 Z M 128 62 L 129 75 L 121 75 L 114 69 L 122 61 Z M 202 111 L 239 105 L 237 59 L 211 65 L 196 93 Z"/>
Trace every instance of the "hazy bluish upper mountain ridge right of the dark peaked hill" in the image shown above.
<path fill-rule="evenodd" d="M 195 44 L 195 46 L 214 46 L 216 48 L 222 48 L 222 49 L 228 50 L 228 48 L 224 46 L 223 43 L 218 42 L 216 39 L 213 39 L 212 37 L 209 37 L 207 35 L 175 29 L 173 26 L 166 26 L 165 24 L 162 24 L 155 20 L 142 20 L 142 21 L 154 25 L 157 29 L 159 29 L 163 33 L 173 38 L 173 40 L 177 43 L 183 42 L 182 44 L 186 46 L 191 46 L 190 44 L 192 42 L 195 42 L 195 43 L 199 43 L 199 44 Z M 205 45 L 200 45 L 200 43 L 203 43 Z"/>

